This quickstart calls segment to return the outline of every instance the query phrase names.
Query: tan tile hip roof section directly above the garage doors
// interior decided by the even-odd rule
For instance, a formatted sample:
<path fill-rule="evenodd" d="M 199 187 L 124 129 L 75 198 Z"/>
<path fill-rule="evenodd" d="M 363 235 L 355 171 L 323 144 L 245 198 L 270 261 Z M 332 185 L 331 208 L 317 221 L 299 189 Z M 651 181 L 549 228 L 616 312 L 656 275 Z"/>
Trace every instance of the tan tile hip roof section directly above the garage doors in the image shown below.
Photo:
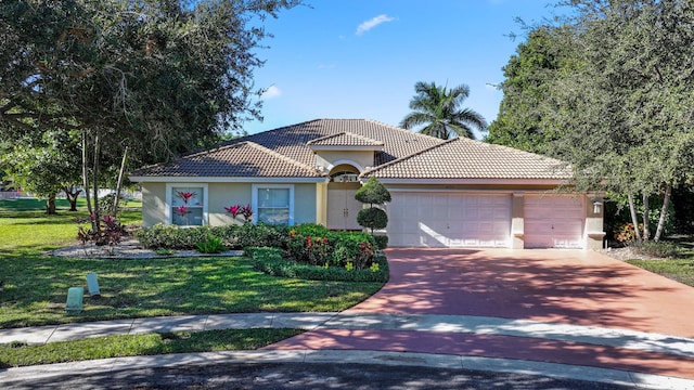
<path fill-rule="evenodd" d="M 362 176 L 377 179 L 554 179 L 571 177 L 568 166 L 541 155 L 470 139 L 453 139 Z"/>

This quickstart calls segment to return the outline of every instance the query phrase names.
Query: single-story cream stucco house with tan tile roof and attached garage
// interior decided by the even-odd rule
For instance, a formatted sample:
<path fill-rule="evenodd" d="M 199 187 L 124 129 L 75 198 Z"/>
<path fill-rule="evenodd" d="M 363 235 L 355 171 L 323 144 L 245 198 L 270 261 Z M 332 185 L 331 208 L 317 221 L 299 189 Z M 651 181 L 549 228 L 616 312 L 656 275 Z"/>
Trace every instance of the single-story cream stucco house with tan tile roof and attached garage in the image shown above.
<path fill-rule="evenodd" d="M 130 173 L 145 226 L 241 223 L 229 212 L 237 205 L 253 222 L 333 230 L 361 229 L 355 192 L 371 177 L 393 197 L 389 246 L 602 246 L 602 198 L 567 191 L 565 162 L 372 120 L 311 120 Z"/>

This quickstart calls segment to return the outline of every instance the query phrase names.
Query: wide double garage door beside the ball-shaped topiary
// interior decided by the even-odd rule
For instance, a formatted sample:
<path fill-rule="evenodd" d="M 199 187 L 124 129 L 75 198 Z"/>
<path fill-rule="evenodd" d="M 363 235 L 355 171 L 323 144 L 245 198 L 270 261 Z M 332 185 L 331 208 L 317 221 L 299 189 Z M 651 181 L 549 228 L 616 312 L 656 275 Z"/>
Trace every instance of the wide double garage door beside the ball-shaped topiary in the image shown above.
<path fill-rule="evenodd" d="M 389 245 L 395 247 L 509 247 L 511 195 L 393 194 Z"/>

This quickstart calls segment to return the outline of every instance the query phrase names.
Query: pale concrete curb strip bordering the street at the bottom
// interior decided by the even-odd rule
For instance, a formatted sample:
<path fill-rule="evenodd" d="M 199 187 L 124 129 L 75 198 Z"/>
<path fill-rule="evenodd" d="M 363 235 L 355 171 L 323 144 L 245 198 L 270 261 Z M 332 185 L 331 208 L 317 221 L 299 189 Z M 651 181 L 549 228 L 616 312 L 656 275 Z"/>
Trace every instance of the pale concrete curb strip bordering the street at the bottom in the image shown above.
<path fill-rule="evenodd" d="M 447 369 L 471 369 L 498 373 L 515 373 L 547 376 L 562 379 L 633 386 L 642 389 L 692 389 L 694 380 L 647 375 L 616 369 L 584 367 L 555 363 L 527 362 L 509 359 L 472 358 L 409 352 L 382 351 L 224 351 L 181 353 L 154 356 L 133 356 L 59 363 L 0 370 L 0 382 L 28 379 L 60 378 L 66 375 L 97 375 L 138 368 L 162 368 L 179 366 L 203 366 L 209 364 L 259 364 L 259 363 L 354 363 L 389 366 L 419 366 Z"/>

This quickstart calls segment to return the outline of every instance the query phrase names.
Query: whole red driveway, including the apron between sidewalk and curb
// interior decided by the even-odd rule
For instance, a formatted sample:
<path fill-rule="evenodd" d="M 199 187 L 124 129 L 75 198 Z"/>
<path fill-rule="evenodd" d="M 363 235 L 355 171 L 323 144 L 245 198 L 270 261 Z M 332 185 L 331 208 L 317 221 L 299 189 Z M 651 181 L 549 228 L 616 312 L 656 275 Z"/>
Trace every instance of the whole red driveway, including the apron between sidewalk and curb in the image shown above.
<path fill-rule="evenodd" d="M 390 281 L 346 313 L 493 316 L 694 337 L 694 288 L 596 252 L 389 249 L 387 255 Z M 505 358 L 694 379 L 691 355 L 493 334 L 319 328 L 267 348 Z"/>

